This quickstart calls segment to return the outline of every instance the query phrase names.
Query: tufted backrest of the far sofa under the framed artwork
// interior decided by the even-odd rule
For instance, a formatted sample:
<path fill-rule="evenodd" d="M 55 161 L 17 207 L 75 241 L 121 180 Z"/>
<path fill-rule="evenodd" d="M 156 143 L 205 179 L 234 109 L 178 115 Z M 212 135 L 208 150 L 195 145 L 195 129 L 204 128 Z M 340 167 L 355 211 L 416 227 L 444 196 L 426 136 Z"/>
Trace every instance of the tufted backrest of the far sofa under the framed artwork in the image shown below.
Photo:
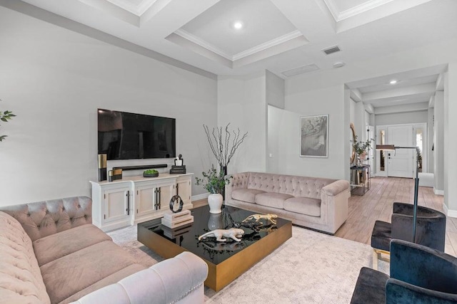
<path fill-rule="evenodd" d="M 321 189 L 336 179 L 297 177 L 293 175 L 248 172 L 248 189 L 321 199 Z"/>

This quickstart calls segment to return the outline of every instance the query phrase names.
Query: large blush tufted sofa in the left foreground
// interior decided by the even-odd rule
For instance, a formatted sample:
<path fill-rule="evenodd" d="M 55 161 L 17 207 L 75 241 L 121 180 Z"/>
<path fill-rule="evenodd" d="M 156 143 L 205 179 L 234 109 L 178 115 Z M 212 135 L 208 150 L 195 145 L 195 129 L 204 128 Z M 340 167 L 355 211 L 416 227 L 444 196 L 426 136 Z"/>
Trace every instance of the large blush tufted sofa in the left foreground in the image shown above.
<path fill-rule="evenodd" d="M 91 224 L 89 197 L 0 209 L 0 303 L 204 303 L 201 258 L 135 263 Z"/>

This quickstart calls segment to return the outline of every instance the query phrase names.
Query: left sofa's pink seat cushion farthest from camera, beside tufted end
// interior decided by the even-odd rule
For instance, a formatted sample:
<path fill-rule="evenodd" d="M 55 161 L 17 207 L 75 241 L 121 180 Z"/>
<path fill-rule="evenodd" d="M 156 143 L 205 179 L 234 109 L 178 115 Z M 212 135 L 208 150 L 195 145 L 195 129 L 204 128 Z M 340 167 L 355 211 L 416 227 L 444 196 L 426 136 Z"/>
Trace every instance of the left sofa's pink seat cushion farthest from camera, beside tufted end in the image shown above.
<path fill-rule="evenodd" d="M 42 266 L 102 241 L 111 241 L 111 237 L 96 226 L 86 224 L 37 239 L 34 251 L 39 266 Z"/>

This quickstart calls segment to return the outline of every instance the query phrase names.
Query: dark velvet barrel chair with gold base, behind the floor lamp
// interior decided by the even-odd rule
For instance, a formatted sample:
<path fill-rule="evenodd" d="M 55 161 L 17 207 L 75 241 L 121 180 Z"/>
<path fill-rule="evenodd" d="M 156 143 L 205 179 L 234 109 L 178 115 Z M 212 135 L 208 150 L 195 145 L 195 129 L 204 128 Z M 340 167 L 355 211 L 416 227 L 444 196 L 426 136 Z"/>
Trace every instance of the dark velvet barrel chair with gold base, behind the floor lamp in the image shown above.
<path fill-rule="evenodd" d="M 374 224 L 371 234 L 373 269 L 378 269 L 378 258 L 381 259 L 381 254 L 389 254 L 392 239 L 413 241 L 413 205 L 393 203 L 391 222 L 376 221 Z M 416 222 L 416 243 L 444 251 L 446 216 L 440 211 L 418 206 Z"/>

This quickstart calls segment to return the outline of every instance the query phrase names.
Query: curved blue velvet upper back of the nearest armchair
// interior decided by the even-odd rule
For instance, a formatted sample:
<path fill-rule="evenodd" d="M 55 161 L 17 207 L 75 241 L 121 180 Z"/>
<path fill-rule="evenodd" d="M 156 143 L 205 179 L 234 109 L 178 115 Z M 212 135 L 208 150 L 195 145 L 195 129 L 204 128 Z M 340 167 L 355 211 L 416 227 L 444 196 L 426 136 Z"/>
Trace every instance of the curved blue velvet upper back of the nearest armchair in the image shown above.
<path fill-rule="evenodd" d="M 416 243 L 393 239 L 391 278 L 443 293 L 457 293 L 457 258 Z"/>

